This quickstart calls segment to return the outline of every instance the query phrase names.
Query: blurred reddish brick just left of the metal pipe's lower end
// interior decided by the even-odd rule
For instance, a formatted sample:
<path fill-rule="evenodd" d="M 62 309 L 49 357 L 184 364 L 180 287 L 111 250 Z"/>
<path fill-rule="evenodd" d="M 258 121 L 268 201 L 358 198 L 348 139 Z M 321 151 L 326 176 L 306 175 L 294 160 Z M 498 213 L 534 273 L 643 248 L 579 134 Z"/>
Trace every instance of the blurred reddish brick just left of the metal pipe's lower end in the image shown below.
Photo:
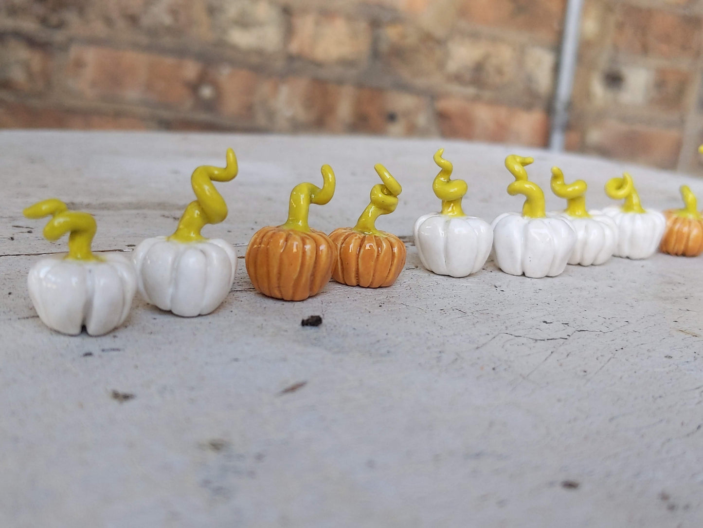
<path fill-rule="evenodd" d="M 435 104 L 439 130 L 445 137 L 475 141 L 545 146 L 549 118 L 542 110 L 444 97 Z"/>

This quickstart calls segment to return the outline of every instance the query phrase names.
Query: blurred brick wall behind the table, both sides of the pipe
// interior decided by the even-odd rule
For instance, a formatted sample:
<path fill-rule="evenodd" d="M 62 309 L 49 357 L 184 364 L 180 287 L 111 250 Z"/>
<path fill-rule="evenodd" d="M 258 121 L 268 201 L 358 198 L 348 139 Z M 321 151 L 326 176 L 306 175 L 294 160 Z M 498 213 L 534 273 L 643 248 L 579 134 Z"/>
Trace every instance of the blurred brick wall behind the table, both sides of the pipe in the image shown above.
<path fill-rule="evenodd" d="M 544 146 L 566 0 L 0 0 L 0 127 Z M 703 0 L 586 0 L 567 149 L 703 172 Z"/>

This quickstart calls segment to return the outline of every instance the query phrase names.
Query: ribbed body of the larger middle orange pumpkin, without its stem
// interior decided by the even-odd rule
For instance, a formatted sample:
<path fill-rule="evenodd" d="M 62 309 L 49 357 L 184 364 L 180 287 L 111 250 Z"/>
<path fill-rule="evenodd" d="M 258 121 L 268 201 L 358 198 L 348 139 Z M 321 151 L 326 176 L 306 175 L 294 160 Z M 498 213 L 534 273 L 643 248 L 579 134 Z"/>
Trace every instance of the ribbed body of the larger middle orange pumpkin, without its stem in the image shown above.
<path fill-rule="evenodd" d="M 302 301 L 329 282 L 335 246 L 320 231 L 263 227 L 249 242 L 245 263 L 254 288 L 262 294 Z"/>

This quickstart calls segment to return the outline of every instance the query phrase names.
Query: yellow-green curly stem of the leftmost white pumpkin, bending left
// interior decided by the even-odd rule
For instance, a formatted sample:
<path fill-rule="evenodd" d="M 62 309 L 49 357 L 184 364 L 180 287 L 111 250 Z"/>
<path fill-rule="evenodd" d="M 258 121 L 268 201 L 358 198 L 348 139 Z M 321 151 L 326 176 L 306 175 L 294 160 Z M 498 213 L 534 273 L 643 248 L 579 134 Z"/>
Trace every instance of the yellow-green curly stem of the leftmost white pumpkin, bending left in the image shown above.
<path fill-rule="evenodd" d="M 52 242 L 68 235 L 68 254 L 73 260 L 102 260 L 93 254 L 91 244 L 98 225 L 88 213 L 70 211 L 63 201 L 56 198 L 40 201 L 22 211 L 27 218 L 53 216 L 44 226 L 44 237 Z"/>

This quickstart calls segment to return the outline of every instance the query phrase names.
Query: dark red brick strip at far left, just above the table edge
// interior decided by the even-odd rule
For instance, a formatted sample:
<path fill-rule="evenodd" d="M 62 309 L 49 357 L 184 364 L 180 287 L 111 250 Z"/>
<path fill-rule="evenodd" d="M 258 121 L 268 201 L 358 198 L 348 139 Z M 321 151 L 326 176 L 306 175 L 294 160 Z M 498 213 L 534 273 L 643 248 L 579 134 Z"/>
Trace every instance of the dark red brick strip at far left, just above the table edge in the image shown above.
<path fill-rule="evenodd" d="M 21 103 L 0 103 L 0 127 L 146 130 L 153 128 L 153 123 L 120 115 L 89 114 Z"/>

